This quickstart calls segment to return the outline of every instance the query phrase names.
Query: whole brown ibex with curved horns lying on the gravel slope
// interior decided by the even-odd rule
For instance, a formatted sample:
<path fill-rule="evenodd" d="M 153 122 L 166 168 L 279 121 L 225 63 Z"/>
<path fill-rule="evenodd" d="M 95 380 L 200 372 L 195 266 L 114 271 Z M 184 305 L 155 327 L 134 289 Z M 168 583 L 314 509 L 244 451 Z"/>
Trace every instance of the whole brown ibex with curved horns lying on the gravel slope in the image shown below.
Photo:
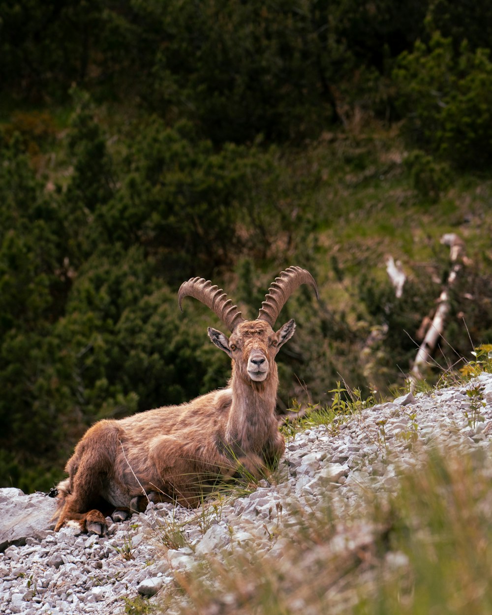
<path fill-rule="evenodd" d="M 188 403 L 148 410 L 121 420 L 103 419 L 87 430 L 58 485 L 55 530 L 69 521 L 106 532 L 105 515 L 124 520 L 149 501 L 196 507 L 213 485 L 239 467 L 260 476 L 284 453 L 275 407 L 279 378 L 275 357 L 295 331 L 289 320 L 274 331 L 284 304 L 301 284 L 318 291 L 311 274 L 289 267 L 272 282 L 256 320 L 245 320 L 223 290 L 195 277 L 184 282 L 178 303 L 191 296 L 231 331 L 208 328 L 212 342 L 231 357 L 226 389 Z"/>

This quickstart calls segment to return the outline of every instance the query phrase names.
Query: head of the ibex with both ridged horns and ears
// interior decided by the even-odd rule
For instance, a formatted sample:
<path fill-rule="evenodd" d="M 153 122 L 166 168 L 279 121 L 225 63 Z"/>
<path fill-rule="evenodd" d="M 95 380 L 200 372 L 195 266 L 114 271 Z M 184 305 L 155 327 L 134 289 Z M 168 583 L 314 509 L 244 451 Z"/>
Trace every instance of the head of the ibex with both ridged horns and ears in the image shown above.
<path fill-rule="evenodd" d="M 273 327 L 280 310 L 301 284 L 311 285 L 318 297 L 316 282 L 306 269 L 289 267 L 282 271 L 268 289 L 256 320 L 245 320 L 221 288 L 212 286 L 210 280 L 199 277 L 181 284 L 178 302 L 181 308 L 183 298 L 192 296 L 212 309 L 229 328 L 231 336 L 228 338 L 212 327 L 208 328 L 208 336 L 231 357 L 245 381 L 260 383 L 271 375 L 280 346 L 285 344 L 295 331 L 296 323 L 293 319 L 277 331 L 274 331 Z"/>

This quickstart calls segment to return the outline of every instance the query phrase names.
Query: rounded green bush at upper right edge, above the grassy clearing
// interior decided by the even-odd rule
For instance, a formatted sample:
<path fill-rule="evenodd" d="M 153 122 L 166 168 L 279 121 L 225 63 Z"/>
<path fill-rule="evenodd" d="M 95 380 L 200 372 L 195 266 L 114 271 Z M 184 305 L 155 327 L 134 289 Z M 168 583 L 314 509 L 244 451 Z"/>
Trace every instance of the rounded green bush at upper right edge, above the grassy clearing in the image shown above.
<path fill-rule="evenodd" d="M 394 79 L 397 103 L 407 117 L 411 143 L 456 167 L 486 169 L 492 158 L 492 62 L 486 49 L 472 52 L 466 41 L 459 54 L 439 33 L 429 46 L 417 42 L 404 52 Z"/>

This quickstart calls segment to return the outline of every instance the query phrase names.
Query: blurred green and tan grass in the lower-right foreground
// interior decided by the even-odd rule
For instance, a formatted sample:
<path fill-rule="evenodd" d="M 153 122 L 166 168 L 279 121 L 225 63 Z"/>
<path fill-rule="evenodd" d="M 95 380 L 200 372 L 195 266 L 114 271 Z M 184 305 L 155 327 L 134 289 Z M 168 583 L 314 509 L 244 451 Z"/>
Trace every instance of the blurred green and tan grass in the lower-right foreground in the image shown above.
<path fill-rule="evenodd" d="M 336 506 L 329 486 L 311 507 L 284 499 L 258 524 L 271 552 L 256 539 L 209 553 L 196 571 L 175 571 L 157 603 L 128 599 L 125 612 L 490 613 L 490 456 L 436 447 L 418 460 L 402 464 L 391 493 L 363 482 L 357 506 Z"/>

